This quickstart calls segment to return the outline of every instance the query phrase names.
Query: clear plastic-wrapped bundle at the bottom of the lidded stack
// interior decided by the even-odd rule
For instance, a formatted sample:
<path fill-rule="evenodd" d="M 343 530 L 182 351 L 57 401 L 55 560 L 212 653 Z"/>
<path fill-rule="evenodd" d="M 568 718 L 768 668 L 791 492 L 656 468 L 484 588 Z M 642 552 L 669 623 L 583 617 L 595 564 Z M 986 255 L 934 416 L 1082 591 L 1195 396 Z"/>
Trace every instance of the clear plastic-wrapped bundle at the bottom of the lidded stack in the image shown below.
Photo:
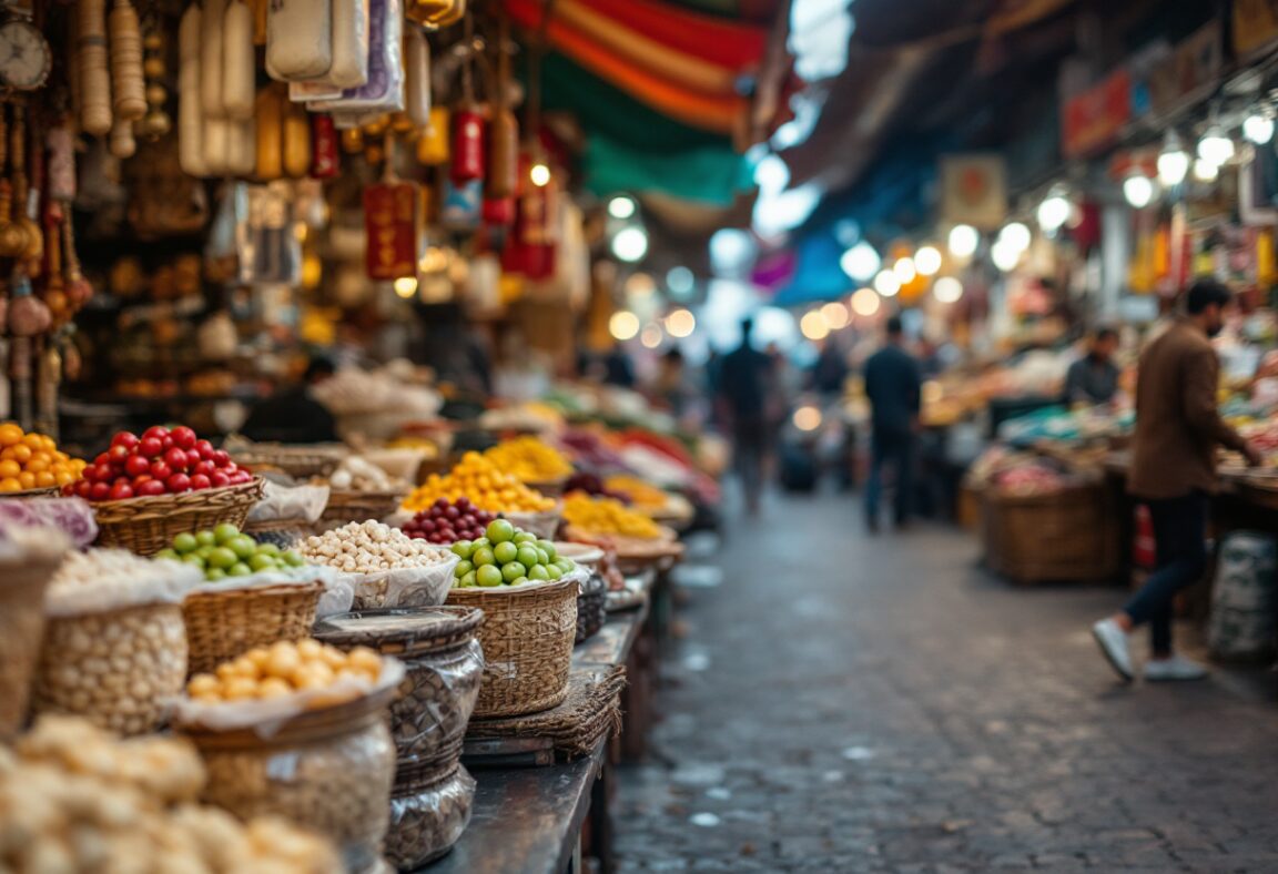
<path fill-rule="evenodd" d="M 461 765 L 442 774 L 401 773 L 391 795 L 386 857 L 415 870 L 443 856 L 470 823 L 475 779 Z"/>

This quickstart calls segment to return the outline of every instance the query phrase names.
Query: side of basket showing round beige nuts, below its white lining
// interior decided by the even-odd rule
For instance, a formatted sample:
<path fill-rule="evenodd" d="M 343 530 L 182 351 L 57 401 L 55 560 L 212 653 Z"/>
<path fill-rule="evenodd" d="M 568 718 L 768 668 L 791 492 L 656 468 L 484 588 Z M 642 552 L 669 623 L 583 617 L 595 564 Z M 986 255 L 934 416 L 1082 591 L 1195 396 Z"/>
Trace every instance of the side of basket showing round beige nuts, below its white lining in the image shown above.
<path fill-rule="evenodd" d="M 33 713 L 69 713 L 100 728 L 158 728 L 187 681 L 187 636 L 178 604 L 134 604 L 45 626 L 31 693 Z"/>

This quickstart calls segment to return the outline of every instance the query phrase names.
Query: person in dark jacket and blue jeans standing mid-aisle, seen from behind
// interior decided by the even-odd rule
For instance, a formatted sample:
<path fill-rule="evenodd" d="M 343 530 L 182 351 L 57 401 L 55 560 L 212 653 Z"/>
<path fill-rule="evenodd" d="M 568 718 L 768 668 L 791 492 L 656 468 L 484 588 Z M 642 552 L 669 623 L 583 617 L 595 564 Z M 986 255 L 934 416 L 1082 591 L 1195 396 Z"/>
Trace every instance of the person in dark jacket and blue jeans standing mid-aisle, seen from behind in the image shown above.
<path fill-rule="evenodd" d="M 887 321 L 887 341 L 865 362 L 865 396 L 870 401 L 870 475 L 865 483 L 865 524 L 878 532 L 883 469 L 896 478 L 897 528 L 910 518 L 914 452 L 919 433 L 923 379 L 919 363 L 905 350 L 901 317 Z"/>

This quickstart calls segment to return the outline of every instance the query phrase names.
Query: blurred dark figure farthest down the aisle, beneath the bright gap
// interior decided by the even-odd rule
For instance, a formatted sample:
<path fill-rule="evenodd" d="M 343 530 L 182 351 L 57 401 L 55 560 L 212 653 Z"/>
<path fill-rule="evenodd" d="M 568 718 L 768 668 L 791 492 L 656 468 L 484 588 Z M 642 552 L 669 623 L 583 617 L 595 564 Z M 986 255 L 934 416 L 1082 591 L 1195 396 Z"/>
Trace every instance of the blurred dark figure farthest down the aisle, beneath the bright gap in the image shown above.
<path fill-rule="evenodd" d="M 751 516 L 759 512 L 768 414 L 776 406 L 772 359 L 750 344 L 753 332 L 754 319 L 744 319 L 741 345 L 723 356 L 718 379 L 722 420 L 732 436 L 732 463 Z"/>

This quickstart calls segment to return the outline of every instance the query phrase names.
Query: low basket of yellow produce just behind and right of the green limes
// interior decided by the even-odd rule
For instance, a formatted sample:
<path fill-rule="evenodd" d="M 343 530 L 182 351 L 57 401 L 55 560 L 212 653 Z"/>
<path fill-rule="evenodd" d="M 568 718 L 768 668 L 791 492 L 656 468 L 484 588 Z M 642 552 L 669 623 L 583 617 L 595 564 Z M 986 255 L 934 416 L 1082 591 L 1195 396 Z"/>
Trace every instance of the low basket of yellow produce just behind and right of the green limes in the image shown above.
<path fill-rule="evenodd" d="M 615 498 L 573 492 L 564 500 L 564 521 L 569 540 L 613 548 L 622 572 L 640 571 L 684 555 L 675 530 Z"/>

